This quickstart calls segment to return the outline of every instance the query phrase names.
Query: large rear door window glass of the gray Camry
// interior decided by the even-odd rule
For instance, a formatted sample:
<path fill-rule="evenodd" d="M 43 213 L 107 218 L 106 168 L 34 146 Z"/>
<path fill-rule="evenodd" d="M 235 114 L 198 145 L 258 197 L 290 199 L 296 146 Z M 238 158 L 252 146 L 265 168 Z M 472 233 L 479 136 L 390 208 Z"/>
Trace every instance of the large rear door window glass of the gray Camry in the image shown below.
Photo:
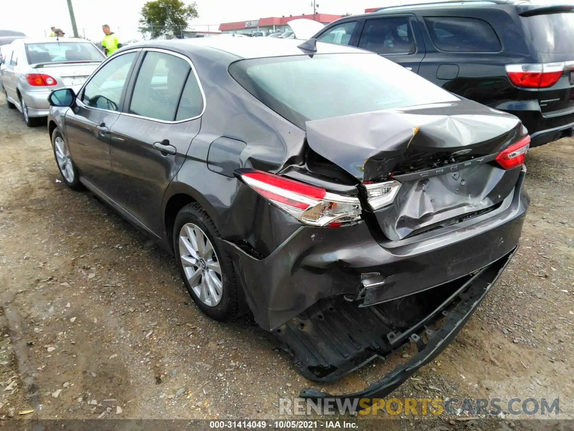
<path fill-rule="evenodd" d="M 135 80 L 130 114 L 174 121 L 189 72 L 191 66 L 180 57 L 147 52 Z"/>

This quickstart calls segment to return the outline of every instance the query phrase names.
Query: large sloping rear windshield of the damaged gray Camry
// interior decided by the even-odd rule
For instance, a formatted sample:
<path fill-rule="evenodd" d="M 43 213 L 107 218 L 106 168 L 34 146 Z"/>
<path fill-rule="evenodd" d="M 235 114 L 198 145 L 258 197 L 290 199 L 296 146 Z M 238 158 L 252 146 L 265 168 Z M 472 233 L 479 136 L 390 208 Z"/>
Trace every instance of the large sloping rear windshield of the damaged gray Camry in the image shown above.
<path fill-rule="evenodd" d="M 240 60 L 229 72 L 259 101 L 302 129 L 309 120 L 459 100 L 370 53 Z"/>

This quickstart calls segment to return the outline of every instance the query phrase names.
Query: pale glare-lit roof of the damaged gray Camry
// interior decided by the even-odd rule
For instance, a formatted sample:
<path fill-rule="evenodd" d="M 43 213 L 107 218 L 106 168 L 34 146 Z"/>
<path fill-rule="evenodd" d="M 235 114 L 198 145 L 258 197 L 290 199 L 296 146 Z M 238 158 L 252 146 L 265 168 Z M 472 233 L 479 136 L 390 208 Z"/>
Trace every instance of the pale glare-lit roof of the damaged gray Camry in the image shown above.
<path fill-rule="evenodd" d="M 274 37 L 196 37 L 193 39 L 145 41 L 130 45 L 130 48 L 175 48 L 176 51 L 192 51 L 193 47 L 208 47 L 230 53 L 241 59 L 262 57 L 284 57 L 290 55 L 308 55 L 297 45 L 304 40 L 276 39 Z M 317 54 L 331 53 L 367 53 L 363 49 L 347 45 L 317 42 Z"/>

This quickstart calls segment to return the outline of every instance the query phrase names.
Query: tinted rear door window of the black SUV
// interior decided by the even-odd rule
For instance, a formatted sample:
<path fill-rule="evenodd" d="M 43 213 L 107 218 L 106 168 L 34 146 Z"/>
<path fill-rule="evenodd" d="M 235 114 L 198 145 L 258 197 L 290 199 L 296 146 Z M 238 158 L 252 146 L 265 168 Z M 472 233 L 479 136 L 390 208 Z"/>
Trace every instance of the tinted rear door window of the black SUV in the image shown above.
<path fill-rule="evenodd" d="M 414 37 L 409 18 L 367 20 L 360 35 L 359 48 L 382 55 L 414 53 Z"/>

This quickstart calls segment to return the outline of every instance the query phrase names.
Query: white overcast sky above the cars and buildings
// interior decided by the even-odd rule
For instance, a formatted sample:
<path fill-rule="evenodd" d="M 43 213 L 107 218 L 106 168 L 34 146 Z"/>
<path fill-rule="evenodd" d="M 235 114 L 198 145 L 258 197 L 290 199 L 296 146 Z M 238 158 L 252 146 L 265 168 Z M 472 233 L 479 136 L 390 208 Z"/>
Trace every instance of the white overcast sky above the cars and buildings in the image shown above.
<path fill-rule="evenodd" d="M 257 20 L 313 13 L 312 0 L 197 0 L 199 18 L 190 26 L 213 24 L 216 30 L 221 22 Z M 393 3 L 401 0 L 392 0 Z M 328 14 L 362 13 L 367 7 L 385 5 L 389 0 L 316 0 L 318 11 Z M 0 0 L 0 29 L 18 30 L 28 36 L 44 36 L 52 25 L 72 36 L 66 0 Z M 72 0 L 78 32 L 86 32 L 90 39 L 99 40 L 102 24 L 108 24 L 121 39 L 140 37 L 137 28 L 139 11 L 145 0 Z M 186 1 L 186 3 L 192 3 Z M 119 30 L 118 30 L 119 29 Z"/>

